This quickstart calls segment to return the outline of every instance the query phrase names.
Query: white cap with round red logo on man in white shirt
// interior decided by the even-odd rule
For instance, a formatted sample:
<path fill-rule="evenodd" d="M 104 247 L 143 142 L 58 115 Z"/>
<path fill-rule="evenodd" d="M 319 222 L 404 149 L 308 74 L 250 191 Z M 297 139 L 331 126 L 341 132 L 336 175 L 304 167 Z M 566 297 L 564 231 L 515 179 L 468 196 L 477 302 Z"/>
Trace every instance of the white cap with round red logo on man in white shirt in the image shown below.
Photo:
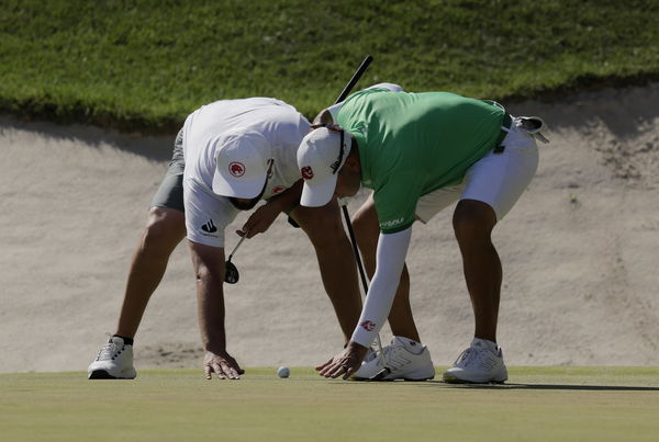
<path fill-rule="evenodd" d="M 216 138 L 213 192 L 217 195 L 254 199 L 268 175 L 270 144 L 259 133 L 244 131 Z"/>

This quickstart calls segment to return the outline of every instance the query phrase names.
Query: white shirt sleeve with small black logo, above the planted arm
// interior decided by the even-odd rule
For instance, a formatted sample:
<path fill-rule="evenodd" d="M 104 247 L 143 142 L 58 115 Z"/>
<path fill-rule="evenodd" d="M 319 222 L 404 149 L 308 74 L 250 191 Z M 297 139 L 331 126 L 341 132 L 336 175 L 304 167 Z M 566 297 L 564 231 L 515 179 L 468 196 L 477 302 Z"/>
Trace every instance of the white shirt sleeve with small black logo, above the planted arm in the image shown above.
<path fill-rule="evenodd" d="M 206 191 L 193 180 L 183 182 L 188 239 L 204 246 L 224 247 L 224 230 L 238 209 L 227 197 Z"/>

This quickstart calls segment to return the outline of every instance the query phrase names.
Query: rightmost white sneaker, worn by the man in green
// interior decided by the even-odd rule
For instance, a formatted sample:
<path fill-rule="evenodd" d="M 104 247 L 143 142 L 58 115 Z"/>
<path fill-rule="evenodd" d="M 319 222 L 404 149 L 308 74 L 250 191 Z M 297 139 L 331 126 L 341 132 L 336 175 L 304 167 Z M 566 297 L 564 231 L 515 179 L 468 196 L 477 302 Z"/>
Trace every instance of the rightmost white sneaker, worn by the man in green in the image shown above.
<path fill-rule="evenodd" d="M 474 338 L 471 345 L 444 372 L 444 382 L 453 384 L 503 383 L 507 370 L 503 363 L 501 347 L 484 339 Z"/>

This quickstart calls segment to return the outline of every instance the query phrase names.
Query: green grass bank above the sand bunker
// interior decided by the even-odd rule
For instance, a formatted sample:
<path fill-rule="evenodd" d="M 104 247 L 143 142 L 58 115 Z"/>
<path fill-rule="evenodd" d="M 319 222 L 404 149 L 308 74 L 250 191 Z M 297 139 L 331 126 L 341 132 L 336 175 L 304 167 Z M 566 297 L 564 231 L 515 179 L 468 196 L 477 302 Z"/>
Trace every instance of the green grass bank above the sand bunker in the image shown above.
<path fill-rule="evenodd" d="M 0 112 L 174 132 L 206 102 L 308 116 L 360 86 L 506 100 L 659 78 L 652 0 L 2 0 Z"/>

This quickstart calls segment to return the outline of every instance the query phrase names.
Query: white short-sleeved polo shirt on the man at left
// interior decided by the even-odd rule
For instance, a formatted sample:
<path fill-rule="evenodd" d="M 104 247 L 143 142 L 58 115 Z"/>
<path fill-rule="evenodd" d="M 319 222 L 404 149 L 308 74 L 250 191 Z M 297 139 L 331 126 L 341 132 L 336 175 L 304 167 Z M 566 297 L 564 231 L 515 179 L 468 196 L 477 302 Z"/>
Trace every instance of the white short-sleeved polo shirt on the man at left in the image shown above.
<path fill-rule="evenodd" d="M 216 101 L 190 114 L 183 126 L 183 205 L 188 239 L 224 247 L 224 229 L 238 213 L 227 197 L 213 193 L 215 151 L 222 145 L 210 140 L 256 132 L 269 141 L 273 167 L 263 196 L 267 200 L 300 179 L 297 151 L 310 126 L 295 107 L 270 98 Z"/>

